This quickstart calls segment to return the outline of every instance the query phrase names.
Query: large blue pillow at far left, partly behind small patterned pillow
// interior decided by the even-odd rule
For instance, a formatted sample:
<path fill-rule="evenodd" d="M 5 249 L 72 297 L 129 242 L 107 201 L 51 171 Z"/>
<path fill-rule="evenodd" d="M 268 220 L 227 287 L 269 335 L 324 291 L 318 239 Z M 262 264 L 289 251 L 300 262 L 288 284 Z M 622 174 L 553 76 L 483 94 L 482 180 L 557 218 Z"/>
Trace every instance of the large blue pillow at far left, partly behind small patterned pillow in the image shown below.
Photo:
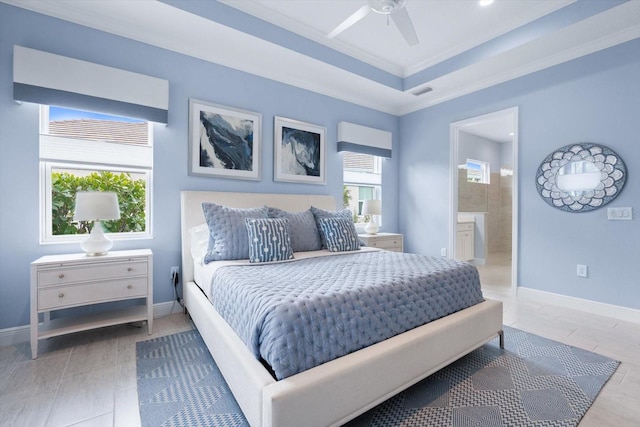
<path fill-rule="evenodd" d="M 209 226 L 209 246 L 204 263 L 249 258 L 245 218 L 266 218 L 267 208 L 237 209 L 215 203 L 202 203 Z"/>

